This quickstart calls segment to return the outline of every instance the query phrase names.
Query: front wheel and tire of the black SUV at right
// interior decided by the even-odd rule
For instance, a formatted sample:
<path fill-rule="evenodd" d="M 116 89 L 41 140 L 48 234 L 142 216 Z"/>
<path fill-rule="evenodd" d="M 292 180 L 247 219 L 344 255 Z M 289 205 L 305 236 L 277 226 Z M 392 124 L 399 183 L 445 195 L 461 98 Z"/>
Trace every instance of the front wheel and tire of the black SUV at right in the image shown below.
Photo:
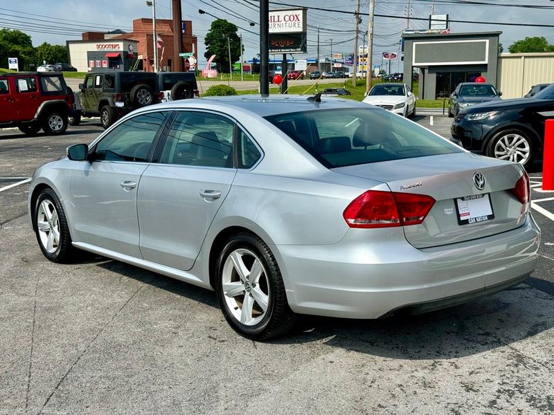
<path fill-rule="evenodd" d="M 535 156 L 533 138 L 523 129 L 503 129 L 490 139 L 485 154 L 499 160 L 515 161 L 526 167 Z"/>

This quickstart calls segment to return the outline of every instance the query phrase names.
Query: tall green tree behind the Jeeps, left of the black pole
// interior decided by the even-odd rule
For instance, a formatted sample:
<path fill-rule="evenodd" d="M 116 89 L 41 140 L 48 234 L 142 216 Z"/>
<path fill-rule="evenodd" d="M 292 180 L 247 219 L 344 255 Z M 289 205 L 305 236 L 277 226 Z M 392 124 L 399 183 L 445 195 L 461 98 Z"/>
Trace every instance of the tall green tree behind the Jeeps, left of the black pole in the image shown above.
<path fill-rule="evenodd" d="M 219 66 L 220 71 L 229 73 L 229 44 L 227 39 L 229 39 L 231 46 L 231 62 L 236 62 L 240 58 L 240 39 L 237 35 L 237 26 L 225 19 L 212 21 L 210 31 L 204 39 L 206 44 L 204 57 L 209 59 L 211 55 L 215 55 L 213 62 Z"/>

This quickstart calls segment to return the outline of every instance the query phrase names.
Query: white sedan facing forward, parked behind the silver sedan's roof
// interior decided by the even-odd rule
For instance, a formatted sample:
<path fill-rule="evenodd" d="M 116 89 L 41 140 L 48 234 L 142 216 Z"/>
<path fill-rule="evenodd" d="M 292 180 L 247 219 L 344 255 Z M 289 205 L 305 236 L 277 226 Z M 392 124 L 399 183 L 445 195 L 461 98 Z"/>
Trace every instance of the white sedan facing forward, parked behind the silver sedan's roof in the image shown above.
<path fill-rule="evenodd" d="M 406 84 L 375 84 L 362 101 L 404 117 L 415 116 L 415 95 Z"/>

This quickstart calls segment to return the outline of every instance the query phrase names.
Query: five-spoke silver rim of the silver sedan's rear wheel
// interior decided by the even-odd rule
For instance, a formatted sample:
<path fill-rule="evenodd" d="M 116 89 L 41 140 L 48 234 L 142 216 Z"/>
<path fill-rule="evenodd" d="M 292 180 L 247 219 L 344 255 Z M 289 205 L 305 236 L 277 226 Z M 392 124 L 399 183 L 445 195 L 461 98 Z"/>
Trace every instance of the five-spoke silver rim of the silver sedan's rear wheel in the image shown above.
<path fill-rule="evenodd" d="M 222 272 L 224 299 L 231 315 L 246 326 L 255 326 L 269 307 L 269 280 L 260 259 L 244 248 L 227 257 Z"/>

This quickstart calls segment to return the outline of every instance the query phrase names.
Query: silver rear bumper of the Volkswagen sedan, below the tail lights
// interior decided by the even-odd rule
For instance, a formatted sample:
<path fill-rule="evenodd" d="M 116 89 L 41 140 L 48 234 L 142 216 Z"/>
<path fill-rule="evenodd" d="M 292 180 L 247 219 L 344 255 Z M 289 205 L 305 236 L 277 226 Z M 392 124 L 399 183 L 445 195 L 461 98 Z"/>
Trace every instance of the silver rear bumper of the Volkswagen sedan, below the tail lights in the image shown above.
<path fill-rule="evenodd" d="M 535 270 L 540 231 L 531 216 L 515 230 L 425 249 L 391 229 L 374 241 L 350 230 L 330 246 L 276 247 L 292 310 L 349 318 L 430 311 L 508 288 Z"/>

